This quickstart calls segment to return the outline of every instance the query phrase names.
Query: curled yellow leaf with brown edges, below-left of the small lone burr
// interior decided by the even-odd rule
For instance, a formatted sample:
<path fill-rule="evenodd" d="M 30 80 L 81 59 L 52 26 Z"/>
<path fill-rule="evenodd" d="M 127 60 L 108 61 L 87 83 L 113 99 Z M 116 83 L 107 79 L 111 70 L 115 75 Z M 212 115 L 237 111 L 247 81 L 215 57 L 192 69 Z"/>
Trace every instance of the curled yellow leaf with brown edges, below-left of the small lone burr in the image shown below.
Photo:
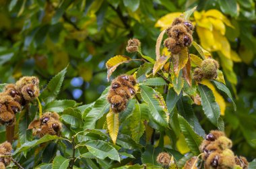
<path fill-rule="evenodd" d="M 110 58 L 108 62 L 106 62 L 106 68 L 108 69 L 108 80 L 111 74 L 116 70 L 117 66 L 123 63 L 128 63 L 132 59 L 127 56 L 117 55 L 113 58 Z"/>

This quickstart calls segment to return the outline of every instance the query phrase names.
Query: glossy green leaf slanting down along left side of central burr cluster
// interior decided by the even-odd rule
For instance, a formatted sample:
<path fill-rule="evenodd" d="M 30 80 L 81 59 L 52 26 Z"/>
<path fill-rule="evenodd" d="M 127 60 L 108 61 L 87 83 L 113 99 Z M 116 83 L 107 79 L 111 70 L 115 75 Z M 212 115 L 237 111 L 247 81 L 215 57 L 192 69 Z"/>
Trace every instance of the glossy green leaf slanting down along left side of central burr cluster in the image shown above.
<path fill-rule="evenodd" d="M 84 129 L 94 129 L 95 123 L 104 113 L 108 112 L 110 107 L 106 96 L 108 94 L 109 87 L 105 89 L 100 98 L 95 102 L 92 110 L 84 117 Z"/>

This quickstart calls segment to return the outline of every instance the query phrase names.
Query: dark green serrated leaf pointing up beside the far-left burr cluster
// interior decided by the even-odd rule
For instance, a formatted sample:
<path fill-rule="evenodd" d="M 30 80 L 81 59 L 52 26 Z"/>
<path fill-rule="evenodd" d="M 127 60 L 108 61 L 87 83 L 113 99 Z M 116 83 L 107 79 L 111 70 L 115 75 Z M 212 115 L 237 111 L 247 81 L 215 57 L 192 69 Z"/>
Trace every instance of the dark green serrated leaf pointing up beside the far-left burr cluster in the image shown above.
<path fill-rule="evenodd" d="M 54 101 L 61 90 L 61 84 L 64 80 L 65 73 L 67 72 L 67 67 L 61 70 L 57 75 L 55 75 L 51 81 L 47 84 L 46 89 L 42 91 L 40 99 L 44 103 L 50 103 Z"/>

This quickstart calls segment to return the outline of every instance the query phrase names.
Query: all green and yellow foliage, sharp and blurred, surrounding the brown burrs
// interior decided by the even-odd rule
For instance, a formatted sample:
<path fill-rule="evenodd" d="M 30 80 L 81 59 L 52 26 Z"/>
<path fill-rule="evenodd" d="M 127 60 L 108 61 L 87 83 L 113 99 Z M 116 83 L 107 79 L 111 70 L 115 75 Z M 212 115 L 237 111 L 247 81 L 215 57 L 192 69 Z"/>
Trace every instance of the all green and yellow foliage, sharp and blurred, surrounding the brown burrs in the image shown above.
<path fill-rule="evenodd" d="M 17 115 L 12 156 L 24 168 L 160 168 L 156 156 L 163 151 L 181 168 L 199 155 L 210 129 L 225 130 L 236 154 L 256 158 L 255 1 L 0 4 L 0 90 L 20 76 L 38 76 L 42 111 L 59 113 L 63 123 L 60 137 L 38 139 L 26 130 L 38 103 Z M 172 55 L 162 48 L 160 30 L 188 9 L 193 44 Z M 141 49 L 127 54 L 133 37 Z M 193 69 L 210 57 L 220 63 L 218 78 L 197 84 Z M 137 94 L 115 114 L 106 100 L 108 80 L 123 73 L 137 78 Z M 4 142 L 4 126 L 0 135 Z"/>

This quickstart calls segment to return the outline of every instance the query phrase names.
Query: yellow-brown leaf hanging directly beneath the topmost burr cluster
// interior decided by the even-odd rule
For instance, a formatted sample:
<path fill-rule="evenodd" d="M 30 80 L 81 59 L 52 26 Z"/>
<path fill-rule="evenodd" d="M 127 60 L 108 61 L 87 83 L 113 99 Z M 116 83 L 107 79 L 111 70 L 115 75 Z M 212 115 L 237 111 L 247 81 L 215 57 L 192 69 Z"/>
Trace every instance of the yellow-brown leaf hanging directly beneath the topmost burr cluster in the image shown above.
<path fill-rule="evenodd" d="M 181 48 L 179 54 L 172 54 L 172 63 L 175 76 L 179 75 L 180 70 L 187 64 L 189 54 L 187 48 Z"/>

